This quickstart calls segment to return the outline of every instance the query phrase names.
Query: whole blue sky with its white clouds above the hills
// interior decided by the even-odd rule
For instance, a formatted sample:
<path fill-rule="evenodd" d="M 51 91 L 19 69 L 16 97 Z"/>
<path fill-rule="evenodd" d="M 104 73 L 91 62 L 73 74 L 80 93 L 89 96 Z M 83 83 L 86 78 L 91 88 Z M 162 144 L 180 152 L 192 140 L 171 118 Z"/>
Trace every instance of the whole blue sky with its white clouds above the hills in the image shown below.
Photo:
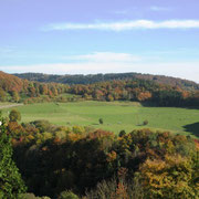
<path fill-rule="evenodd" d="M 0 70 L 199 82 L 199 1 L 0 0 Z"/>

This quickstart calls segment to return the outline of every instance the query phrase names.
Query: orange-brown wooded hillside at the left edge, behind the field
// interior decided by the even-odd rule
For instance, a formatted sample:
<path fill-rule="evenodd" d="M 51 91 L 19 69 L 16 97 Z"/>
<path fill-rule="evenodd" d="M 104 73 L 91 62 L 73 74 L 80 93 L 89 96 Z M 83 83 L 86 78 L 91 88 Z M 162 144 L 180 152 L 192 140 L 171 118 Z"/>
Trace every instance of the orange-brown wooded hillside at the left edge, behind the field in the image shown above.
<path fill-rule="evenodd" d="M 0 71 L 0 102 L 25 102 L 40 96 L 48 101 L 67 88 L 64 84 L 31 82 Z"/>

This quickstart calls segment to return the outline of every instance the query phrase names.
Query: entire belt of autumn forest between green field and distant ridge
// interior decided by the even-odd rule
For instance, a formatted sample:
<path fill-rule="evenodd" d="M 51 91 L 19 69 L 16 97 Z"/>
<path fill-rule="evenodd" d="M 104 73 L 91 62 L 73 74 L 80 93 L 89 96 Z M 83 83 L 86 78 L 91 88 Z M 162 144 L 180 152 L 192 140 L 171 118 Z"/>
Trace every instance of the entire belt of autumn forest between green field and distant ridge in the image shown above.
<path fill-rule="evenodd" d="M 62 94 L 73 94 L 64 97 Z M 150 80 L 104 81 L 93 84 L 39 83 L 0 73 L 0 101 L 35 103 L 75 100 L 137 101 L 155 106 L 199 106 L 198 90 L 160 84 Z M 148 104 L 148 105 L 149 105 Z"/>

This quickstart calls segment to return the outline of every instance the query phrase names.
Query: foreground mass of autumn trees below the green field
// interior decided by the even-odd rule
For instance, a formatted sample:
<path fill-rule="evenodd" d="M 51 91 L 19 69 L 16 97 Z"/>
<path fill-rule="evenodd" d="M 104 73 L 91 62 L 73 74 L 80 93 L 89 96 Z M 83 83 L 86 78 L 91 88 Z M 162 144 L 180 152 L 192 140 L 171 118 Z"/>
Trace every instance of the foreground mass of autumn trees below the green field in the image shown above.
<path fill-rule="evenodd" d="M 11 153 L 7 156 L 6 151 L 12 145 L 19 168 L 15 176 L 20 181 L 15 189 L 13 180 L 6 184 L 6 176 L 0 170 L 2 198 L 18 196 L 24 199 L 35 195 L 59 199 L 171 199 L 199 196 L 199 142 L 189 136 L 149 129 L 129 134 L 122 130 L 117 136 L 90 127 L 55 126 L 48 121 L 20 124 L 20 113 L 13 109 L 0 126 L 0 150 L 4 151 L 0 158 L 8 159 L 6 164 L 11 163 Z M 8 169 L 4 167 L 6 174 Z M 31 193 L 25 193 L 19 172 Z M 4 184 L 9 189 L 2 189 Z"/>

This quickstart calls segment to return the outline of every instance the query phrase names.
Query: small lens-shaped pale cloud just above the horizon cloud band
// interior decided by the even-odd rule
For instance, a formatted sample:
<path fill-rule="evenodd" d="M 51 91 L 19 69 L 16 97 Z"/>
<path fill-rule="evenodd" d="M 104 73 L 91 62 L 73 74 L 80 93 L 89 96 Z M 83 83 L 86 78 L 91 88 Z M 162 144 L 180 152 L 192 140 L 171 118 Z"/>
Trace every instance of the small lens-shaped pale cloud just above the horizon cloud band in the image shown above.
<path fill-rule="evenodd" d="M 114 52 L 94 52 L 83 55 L 64 56 L 65 60 L 86 61 L 86 62 L 137 62 L 140 56 L 129 53 L 114 53 Z"/>

